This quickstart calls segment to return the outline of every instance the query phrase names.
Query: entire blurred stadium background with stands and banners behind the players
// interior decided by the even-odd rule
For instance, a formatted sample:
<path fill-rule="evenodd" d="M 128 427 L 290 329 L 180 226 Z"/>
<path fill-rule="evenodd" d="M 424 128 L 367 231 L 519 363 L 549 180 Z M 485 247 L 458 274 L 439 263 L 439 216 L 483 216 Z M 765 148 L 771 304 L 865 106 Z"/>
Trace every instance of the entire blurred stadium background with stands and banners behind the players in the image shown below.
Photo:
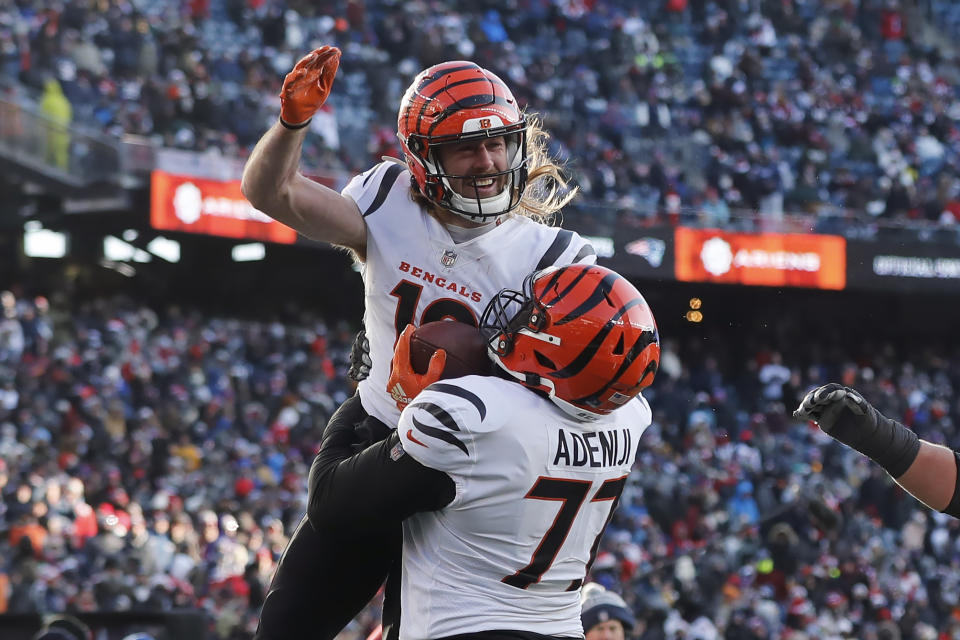
<path fill-rule="evenodd" d="M 957 523 L 789 418 L 841 380 L 960 446 L 958 25 L 946 1 L 0 4 L 2 636 L 255 628 L 362 298 L 238 178 L 283 73 L 337 44 L 308 173 L 395 153 L 412 75 L 474 59 L 554 133 L 565 226 L 650 301 L 655 423 L 591 576 L 637 637 L 960 637 Z"/>

